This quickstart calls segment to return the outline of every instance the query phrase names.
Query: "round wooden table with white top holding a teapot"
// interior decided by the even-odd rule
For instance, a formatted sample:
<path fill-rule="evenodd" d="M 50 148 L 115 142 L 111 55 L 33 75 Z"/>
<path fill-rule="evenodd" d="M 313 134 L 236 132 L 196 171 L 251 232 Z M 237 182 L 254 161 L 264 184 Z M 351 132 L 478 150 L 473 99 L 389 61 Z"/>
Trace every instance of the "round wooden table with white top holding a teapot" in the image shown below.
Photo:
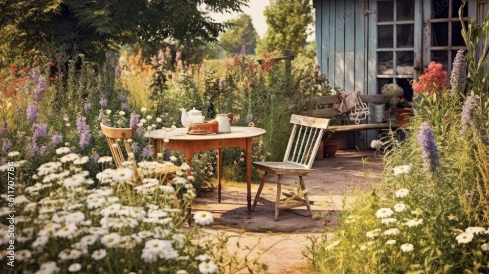
<path fill-rule="evenodd" d="M 203 150 L 217 149 L 217 181 L 218 181 L 218 203 L 221 203 L 221 164 L 223 148 L 242 147 L 246 160 L 246 200 L 248 202 L 248 219 L 251 218 L 251 143 L 253 137 L 264 135 L 266 131 L 256 127 L 231 127 L 230 133 L 217 133 L 209 135 L 190 135 L 187 128 L 177 128 L 167 131 L 165 129 L 150 132 L 149 137 L 155 139 L 155 155 L 161 150 L 177 150 L 185 155 L 185 160 L 190 166 L 187 176 L 190 176 L 192 159 L 194 153 Z M 163 139 L 168 139 L 165 143 Z"/>

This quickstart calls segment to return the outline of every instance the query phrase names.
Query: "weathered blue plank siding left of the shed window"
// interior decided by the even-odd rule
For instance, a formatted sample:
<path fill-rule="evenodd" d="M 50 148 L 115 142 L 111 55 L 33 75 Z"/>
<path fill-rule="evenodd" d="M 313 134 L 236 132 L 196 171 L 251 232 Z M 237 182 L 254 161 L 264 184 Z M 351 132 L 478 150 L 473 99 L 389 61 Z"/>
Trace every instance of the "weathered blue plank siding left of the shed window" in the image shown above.
<path fill-rule="evenodd" d="M 316 52 L 332 87 L 367 94 L 364 0 L 314 0 Z"/>

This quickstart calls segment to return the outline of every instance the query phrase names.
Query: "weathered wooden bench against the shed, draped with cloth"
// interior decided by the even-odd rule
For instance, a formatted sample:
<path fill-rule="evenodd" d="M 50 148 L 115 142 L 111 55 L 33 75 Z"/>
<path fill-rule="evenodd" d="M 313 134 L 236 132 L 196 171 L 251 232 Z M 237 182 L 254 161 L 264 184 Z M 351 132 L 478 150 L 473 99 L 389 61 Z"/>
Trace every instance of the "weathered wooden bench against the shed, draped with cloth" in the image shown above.
<path fill-rule="evenodd" d="M 363 103 L 388 103 L 389 99 L 386 98 L 382 94 L 378 95 L 360 95 L 360 99 L 362 100 Z M 290 105 L 289 108 L 296 108 L 299 106 L 303 106 L 306 104 L 313 104 L 319 109 L 317 110 L 311 110 L 311 111 L 306 111 L 303 113 L 303 115 L 306 116 L 311 116 L 311 117 L 318 117 L 318 118 L 328 118 L 328 117 L 333 117 L 333 116 L 340 116 L 341 114 L 333 108 L 334 103 L 339 103 L 340 99 L 337 95 L 327 95 L 327 96 L 320 96 L 320 97 L 315 97 L 312 98 L 311 101 L 303 101 L 302 103 L 299 104 L 294 104 Z M 326 107 L 325 107 L 326 106 Z M 348 113 L 347 113 L 348 115 Z M 373 114 L 369 114 L 373 115 Z M 368 119 L 368 118 L 367 118 Z M 375 121 L 375 120 L 374 120 Z M 353 121 L 352 121 L 353 122 Z M 346 125 L 332 125 L 328 126 L 327 131 L 330 132 L 354 132 L 358 131 L 359 135 L 359 140 L 363 141 L 363 131 L 364 130 L 372 130 L 372 129 L 395 129 L 400 127 L 401 125 L 399 123 L 366 123 L 363 122 L 361 124 L 346 124 Z"/>

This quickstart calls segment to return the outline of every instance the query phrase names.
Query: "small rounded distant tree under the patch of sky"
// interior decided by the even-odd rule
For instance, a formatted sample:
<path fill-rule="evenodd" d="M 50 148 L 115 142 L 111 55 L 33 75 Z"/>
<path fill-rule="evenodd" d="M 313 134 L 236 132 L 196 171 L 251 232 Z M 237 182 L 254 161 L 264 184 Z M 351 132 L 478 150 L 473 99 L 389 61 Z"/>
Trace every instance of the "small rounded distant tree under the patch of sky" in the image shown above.
<path fill-rule="evenodd" d="M 258 34 L 256 33 L 251 17 L 247 14 L 241 14 L 235 19 L 226 23 L 229 26 L 221 34 L 219 43 L 228 53 L 240 53 L 241 46 L 246 46 L 246 54 L 255 54 Z"/>

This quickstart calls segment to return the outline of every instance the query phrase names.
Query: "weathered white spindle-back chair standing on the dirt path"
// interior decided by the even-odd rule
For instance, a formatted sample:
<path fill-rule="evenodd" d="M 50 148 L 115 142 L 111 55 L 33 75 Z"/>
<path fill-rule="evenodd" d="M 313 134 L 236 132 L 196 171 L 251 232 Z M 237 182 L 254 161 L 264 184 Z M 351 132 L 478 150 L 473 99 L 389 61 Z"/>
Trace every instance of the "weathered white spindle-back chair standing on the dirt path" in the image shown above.
<path fill-rule="evenodd" d="M 311 166 L 314 161 L 317 149 L 321 142 L 324 130 L 328 127 L 329 119 L 313 118 L 292 114 L 290 123 L 294 126 L 290 135 L 289 145 L 285 152 L 284 161 L 282 162 L 253 162 L 253 166 L 265 171 L 262 182 L 258 187 L 258 191 L 253 201 L 251 211 L 254 211 L 256 203 L 260 202 L 266 206 L 275 207 L 275 221 L 278 221 L 278 212 L 280 208 L 293 208 L 298 206 L 306 206 L 309 215 L 312 216 L 311 205 L 307 193 L 304 194 L 304 199 L 300 199 L 299 195 L 284 195 L 289 196 L 288 200 L 301 202 L 300 204 L 280 205 L 282 175 L 297 175 L 302 191 L 306 190 L 303 176 L 306 176 L 312 171 Z M 267 181 L 268 173 L 278 175 L 277 180 L 277 198 L 275 203 L 260 197 L 263 186 Z"/>

